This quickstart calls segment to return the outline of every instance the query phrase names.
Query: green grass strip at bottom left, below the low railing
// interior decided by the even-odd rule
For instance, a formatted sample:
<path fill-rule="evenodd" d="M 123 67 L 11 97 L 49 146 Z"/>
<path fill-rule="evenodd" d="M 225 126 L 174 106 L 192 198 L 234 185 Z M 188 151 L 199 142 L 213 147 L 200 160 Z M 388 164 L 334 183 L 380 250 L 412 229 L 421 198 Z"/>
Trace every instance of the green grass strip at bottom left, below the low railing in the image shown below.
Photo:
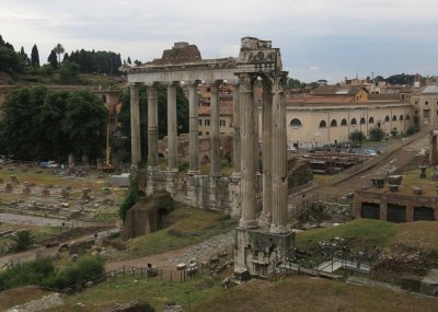
<path fill-rule="evenodd" d="M 205 282 L 209 277 L 198 275 L 186 282 L 141 279 L 126 276 L 93 287 L 84 292 L 68 297 L 61 307 L 47 311 L 108 311 L 116 303 L 147 301 L 157 311 L 163 311 L 165 304 L 175 302 L 183 305 L 184 311 L 189 307 L 219 296 L 223 292 L 220 280 Z M 208 285 L 209 287 L 199 287 Z M 82 308 L 79 308 L 81 303 Z M 211 311 L 211 310 L 205 310 Z"/>

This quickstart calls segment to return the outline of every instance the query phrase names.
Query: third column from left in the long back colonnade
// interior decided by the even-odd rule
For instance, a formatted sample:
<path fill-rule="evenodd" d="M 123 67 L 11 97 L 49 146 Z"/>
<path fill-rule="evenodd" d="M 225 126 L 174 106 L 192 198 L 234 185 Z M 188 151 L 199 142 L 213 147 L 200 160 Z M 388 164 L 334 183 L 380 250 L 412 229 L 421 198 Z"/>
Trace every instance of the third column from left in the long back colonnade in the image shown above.
<path fill-rule="evenodd" d="M 168 85 L 168 170 L 177 171 L 176 83 Z"/>

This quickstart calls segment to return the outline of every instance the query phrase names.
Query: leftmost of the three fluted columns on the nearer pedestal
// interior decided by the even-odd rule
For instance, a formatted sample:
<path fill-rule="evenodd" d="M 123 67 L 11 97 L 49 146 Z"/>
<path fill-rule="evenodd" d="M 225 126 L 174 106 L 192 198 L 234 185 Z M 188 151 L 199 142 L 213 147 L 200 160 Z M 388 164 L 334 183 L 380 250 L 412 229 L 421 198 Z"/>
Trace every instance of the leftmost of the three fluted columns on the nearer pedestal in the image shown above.
<path fill-rule="evenodd" d="M 255 150 L 254 88 L 250 73 L 239 74 L 241 107 L 241 219 L 240 228 L 254 229 L 255 221 Z"/>

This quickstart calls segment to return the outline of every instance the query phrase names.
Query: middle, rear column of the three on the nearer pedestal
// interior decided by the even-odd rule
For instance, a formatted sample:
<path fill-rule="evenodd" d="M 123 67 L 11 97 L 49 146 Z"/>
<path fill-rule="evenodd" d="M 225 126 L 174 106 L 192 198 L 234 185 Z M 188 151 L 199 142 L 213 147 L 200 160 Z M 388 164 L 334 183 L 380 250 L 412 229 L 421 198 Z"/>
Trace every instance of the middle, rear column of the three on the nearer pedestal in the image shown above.
<path fill-rule="evenodd" d="M 262 104 L 262 162 L 263 162 L 263 210 L 260 224 L 270 227 L 273 200 L 273 84 L 269 79 L 263 81 Z"/>

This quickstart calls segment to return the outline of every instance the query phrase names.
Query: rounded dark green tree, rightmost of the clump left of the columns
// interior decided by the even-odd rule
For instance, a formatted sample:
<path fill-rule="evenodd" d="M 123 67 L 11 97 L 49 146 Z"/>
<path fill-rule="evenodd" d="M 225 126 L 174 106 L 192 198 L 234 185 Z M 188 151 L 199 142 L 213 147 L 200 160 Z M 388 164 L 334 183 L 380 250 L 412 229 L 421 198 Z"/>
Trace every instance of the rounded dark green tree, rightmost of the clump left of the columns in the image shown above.
<path fill-rule="evenodd" d="M 74 91 L 67 100 L 62 130 L 71 140 L 71 152 L 97 158 L 105 147 L 107 109 L 91 91 Z"/>

